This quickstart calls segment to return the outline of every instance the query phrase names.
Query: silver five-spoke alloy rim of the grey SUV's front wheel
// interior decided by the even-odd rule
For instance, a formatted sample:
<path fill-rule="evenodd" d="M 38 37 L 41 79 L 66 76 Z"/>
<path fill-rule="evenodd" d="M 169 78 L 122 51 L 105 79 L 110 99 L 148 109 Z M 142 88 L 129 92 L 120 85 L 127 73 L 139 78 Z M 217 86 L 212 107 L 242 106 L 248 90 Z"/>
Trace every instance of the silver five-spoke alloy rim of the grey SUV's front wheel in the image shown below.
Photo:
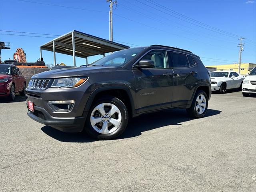
<path fill-rule="evenodd" d="M 118 129 L 122 115 L 117 106 L 111 103 L 97 105 L 90 115 L 92 128 L 100 134 L 110 134 Z"/>

